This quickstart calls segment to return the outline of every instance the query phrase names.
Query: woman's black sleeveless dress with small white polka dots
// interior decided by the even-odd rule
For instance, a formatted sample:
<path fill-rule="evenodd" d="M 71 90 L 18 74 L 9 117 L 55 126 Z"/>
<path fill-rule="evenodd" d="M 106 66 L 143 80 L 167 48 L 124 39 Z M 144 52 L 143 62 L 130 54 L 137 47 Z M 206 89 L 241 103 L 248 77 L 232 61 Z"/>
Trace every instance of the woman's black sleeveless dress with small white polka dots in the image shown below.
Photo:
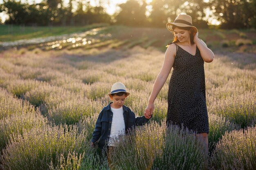
<path fill-rule="evenodd" d="M 196 47 L 191 55 L 178 45 L 168 90 L 166 124 L 182 124 L 196 133 L 209 133 L 205 100 L 204 60 Z"/>

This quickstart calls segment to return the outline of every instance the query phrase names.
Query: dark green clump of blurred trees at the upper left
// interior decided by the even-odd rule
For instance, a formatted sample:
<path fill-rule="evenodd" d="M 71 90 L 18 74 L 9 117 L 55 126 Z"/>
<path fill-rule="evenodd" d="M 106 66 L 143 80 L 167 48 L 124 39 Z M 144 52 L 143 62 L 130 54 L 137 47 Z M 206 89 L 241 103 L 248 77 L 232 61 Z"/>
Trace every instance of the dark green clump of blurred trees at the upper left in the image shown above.
<path fill-rule="evenodd" d="M 2 11 L 6 11 L 10 16 L 5 21 L 6 24 L 47 26 L 49 24 L 85 25 L 110 22 L 110 15 L 105 12 L 103 7 L 92 7 L 90 3 L 86 4 L 86 11 L 83 11 L 83 4 L 79 3 L 74 16 L 72 16 L 72 2 L 70 2 L 70 7 L 64 7 L 62 0 L 44 1 L 37 4 L 8 0 L 4 1 L 1 7 Z"/>

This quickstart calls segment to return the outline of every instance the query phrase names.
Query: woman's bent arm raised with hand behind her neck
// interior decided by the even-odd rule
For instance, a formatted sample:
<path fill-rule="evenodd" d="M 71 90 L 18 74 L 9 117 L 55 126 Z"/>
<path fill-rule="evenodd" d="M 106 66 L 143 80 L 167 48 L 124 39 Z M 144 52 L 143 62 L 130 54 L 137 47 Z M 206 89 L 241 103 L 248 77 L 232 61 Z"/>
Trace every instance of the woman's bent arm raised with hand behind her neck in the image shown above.
<path fill-rule="evenodd" d="M 207 48 L 207 45 L 204 43 L 204 41 L 198 38 L 198 32 L 195 34 L 194 42 L 196 46 L 198 46 L 198 49 L 200 50 L 200 54 L 204 62 L 212 62 L 214 54 L 210 49 Z"/>

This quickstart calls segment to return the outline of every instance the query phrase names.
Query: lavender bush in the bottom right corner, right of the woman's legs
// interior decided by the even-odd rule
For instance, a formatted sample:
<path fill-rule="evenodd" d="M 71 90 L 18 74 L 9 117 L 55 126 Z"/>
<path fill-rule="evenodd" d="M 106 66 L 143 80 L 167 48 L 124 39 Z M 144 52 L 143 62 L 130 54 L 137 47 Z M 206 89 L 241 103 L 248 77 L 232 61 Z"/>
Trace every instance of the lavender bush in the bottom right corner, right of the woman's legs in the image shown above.
<path fill-rule="evenodd" d="M 255 170 L 256 127 L 226 132 L 211 157 L 212 170 Z"/>

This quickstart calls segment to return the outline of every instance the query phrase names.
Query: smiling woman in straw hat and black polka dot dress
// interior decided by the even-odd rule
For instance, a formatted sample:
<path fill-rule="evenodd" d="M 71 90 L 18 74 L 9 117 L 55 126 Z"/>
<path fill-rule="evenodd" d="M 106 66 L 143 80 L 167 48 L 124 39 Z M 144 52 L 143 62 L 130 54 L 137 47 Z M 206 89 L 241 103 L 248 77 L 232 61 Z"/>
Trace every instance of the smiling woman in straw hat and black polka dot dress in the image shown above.
<path fill-rule="evenodd" d="M 178 15 L 166 27 L 174 34 L 164 55 L 162 69 L 155 80 L 145 117 L 153 114 L 154 101 L 173 67 L 168 90 L 167 126 L 183 125 L 202 137 L 208 146 L 208 115 L 205 99 L 204 62 L 212 62 L 214 54 L 198 38 L 189 15 Z M 150 115 L 150 114 L 151 115 Z"/>

